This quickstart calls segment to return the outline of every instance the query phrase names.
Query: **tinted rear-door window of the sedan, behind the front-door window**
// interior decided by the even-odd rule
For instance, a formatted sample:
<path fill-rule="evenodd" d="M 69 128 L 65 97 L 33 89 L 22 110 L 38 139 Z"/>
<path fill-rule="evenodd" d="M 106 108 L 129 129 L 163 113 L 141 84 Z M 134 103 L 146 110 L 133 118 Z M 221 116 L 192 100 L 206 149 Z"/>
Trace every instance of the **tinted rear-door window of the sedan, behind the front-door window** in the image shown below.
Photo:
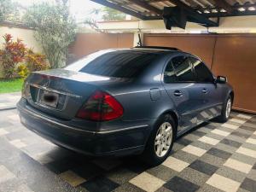
<path fill-rule="evenodd" d="M 187 56 L 177 56 L 172 59 L 172 66 L 174 68 L 178 82 L 194 82 L 195 74 Z"/>

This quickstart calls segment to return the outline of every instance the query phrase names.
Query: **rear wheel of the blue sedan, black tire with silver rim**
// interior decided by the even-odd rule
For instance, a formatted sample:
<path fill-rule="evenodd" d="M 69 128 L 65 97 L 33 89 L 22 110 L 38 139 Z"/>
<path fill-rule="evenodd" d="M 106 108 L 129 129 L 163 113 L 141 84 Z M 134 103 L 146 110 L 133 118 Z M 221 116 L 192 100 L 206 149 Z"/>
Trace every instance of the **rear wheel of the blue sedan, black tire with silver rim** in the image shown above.
<path fill-rule="evenodd" d="M 170 114 L 157 120 L 145 147 L 141 160 L 149 166 L 158 166 L 169 156 L 176 138 L 175 121 Z"/>

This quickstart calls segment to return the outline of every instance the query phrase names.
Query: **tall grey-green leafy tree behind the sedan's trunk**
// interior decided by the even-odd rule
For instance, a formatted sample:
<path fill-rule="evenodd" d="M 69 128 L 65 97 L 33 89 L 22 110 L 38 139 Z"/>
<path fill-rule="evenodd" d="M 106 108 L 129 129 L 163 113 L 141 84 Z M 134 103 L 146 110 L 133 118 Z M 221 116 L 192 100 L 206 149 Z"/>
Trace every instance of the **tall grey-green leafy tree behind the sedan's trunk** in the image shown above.
<path fill-rule="evenodd" d="M 35 29 L 35 38 L 42 45 L 50 67 L 65 66 L 68 46 L 74 41 L 77 28 L 67 0 L 34 4 L 27 9 L 24 20 Z"/>

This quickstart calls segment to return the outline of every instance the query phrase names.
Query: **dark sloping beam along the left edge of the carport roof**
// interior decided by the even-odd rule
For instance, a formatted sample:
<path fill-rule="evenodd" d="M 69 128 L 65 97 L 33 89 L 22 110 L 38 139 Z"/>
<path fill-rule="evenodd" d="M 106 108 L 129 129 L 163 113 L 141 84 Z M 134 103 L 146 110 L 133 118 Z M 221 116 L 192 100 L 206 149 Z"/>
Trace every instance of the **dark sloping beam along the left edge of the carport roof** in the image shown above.
<path fill-rule="evenodd" d="M 102 4 L 104 6 L 107 6 L 109 8 L 112 8 L 112 9 L 116 9 L 116 10 L 119 10 L 127 15 L 131 15 L 131 16 L 135 16 L 141 20 L 146 20 L 146 17 L 135 12 L 135 11 L 132 11 L 131 9 L 126 9 L 122 6 L 119 6 L 118 4 L 115 4 L 115 3 L 110 3 L 108 2 L 107 0 L 90 0 L 92 2 L 95 2 L 95 3 L 99 3 L 99 4 Z"/>

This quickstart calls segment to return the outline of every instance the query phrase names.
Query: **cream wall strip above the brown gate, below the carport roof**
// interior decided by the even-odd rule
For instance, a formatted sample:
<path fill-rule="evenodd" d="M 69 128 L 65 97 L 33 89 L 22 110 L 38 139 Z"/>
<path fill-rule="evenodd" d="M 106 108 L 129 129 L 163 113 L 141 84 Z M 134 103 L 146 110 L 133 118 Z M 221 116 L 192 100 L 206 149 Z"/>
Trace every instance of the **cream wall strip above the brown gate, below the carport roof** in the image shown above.
<path fill-rule="evenodd" d="M 98 22 L 100 29 L 107 32 L 145 32 L 145 33 L 255 33 L 256 15 L 223 17 L 219 20 L 218 27 L 201 26 L 196 23 L 188 22 L 186 29 L 172 27 L 166 30 L 163 20 L 123 20 L 123 21 L 102 21 Z"/>

